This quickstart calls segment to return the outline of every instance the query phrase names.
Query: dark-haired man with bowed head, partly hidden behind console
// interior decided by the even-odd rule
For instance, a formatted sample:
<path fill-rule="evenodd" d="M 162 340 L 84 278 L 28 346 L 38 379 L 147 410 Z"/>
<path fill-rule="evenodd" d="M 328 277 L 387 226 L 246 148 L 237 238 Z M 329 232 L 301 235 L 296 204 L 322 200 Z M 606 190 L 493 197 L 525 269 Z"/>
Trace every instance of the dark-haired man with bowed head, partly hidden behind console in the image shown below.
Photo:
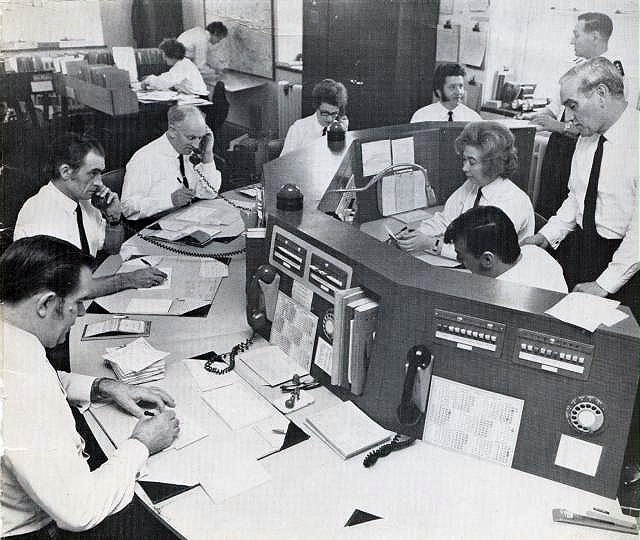
<path fill-rule="evenodd" d="M 478 206 L 458 216 L 444 241 L 454 245 L 458 261 L 474 274 L 567 292 L 557 261 L 538 246 L 520 248 L 513 222 L 495 206 Z"/>

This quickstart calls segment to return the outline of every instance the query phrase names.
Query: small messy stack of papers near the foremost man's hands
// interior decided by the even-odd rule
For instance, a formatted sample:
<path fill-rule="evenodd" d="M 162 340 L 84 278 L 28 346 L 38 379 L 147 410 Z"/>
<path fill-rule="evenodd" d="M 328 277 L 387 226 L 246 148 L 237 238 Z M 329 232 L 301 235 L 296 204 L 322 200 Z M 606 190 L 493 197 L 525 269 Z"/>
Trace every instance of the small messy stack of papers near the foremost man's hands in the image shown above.
<path fill-rule="evenodd" d="M 168 352 L 154 349 L 144 338 L 124 347 L 107 347 L 102 355 L 118 380 L 128 384 L 142 384 L 164 378 L 164 358 Z"/>

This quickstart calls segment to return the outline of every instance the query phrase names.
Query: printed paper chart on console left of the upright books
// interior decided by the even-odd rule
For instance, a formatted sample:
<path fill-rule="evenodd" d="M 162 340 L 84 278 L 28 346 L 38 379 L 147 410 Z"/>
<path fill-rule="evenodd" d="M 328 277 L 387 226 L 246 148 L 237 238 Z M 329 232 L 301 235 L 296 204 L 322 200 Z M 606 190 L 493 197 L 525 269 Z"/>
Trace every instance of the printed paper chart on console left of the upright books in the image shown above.
<path fill-rule="evenodd" d="M 278 292 L 276 313 L 271 324 L 271 344 L 280 347 L 289 359 L 301 365 L 307 373 L 313 359 L 313 342 L 318 317 Z"/>

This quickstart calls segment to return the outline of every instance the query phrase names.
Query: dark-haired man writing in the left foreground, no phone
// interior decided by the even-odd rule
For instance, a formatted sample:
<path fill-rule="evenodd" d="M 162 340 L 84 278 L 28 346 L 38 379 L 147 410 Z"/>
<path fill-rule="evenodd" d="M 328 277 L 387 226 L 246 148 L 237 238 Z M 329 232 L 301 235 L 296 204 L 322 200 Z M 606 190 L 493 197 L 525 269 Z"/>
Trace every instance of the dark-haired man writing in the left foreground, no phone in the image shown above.
<path fill-rule="evenodd" d="M 171 445 L 180 430 L 167 409 L 175 403 L 163 390 L 56 373 L 47 362 L 44 347 L 63 342 L 84 314 L 91 262 L 70 243 L 47 236 L 17 240 L 0 257 L 3 538 L 63 538 L 58 527 L 96 526 L 97 538 L 136 538 L 145 519 L 130 505 L 136 478 L 148 456 Z M 140 420 L 90 472 L 71 406 L 99 400 L 112 400 Z M 153 415 L 145 415 L 151 408 Z"/>

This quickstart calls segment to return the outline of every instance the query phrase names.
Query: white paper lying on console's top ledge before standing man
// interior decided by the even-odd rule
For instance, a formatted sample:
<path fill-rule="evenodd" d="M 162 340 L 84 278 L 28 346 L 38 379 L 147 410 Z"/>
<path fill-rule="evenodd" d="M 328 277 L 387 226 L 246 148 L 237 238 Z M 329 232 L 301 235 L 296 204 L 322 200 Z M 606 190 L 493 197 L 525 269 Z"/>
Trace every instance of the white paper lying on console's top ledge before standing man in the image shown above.
<path fill-rule="evenodd" d="M 592 294 L 572 292 L 550 307 L 545 313 L 561 321 L 575 324 L 589 332 L 595 331 L 605 320 L 615 319 L 620 302 Z"/>

